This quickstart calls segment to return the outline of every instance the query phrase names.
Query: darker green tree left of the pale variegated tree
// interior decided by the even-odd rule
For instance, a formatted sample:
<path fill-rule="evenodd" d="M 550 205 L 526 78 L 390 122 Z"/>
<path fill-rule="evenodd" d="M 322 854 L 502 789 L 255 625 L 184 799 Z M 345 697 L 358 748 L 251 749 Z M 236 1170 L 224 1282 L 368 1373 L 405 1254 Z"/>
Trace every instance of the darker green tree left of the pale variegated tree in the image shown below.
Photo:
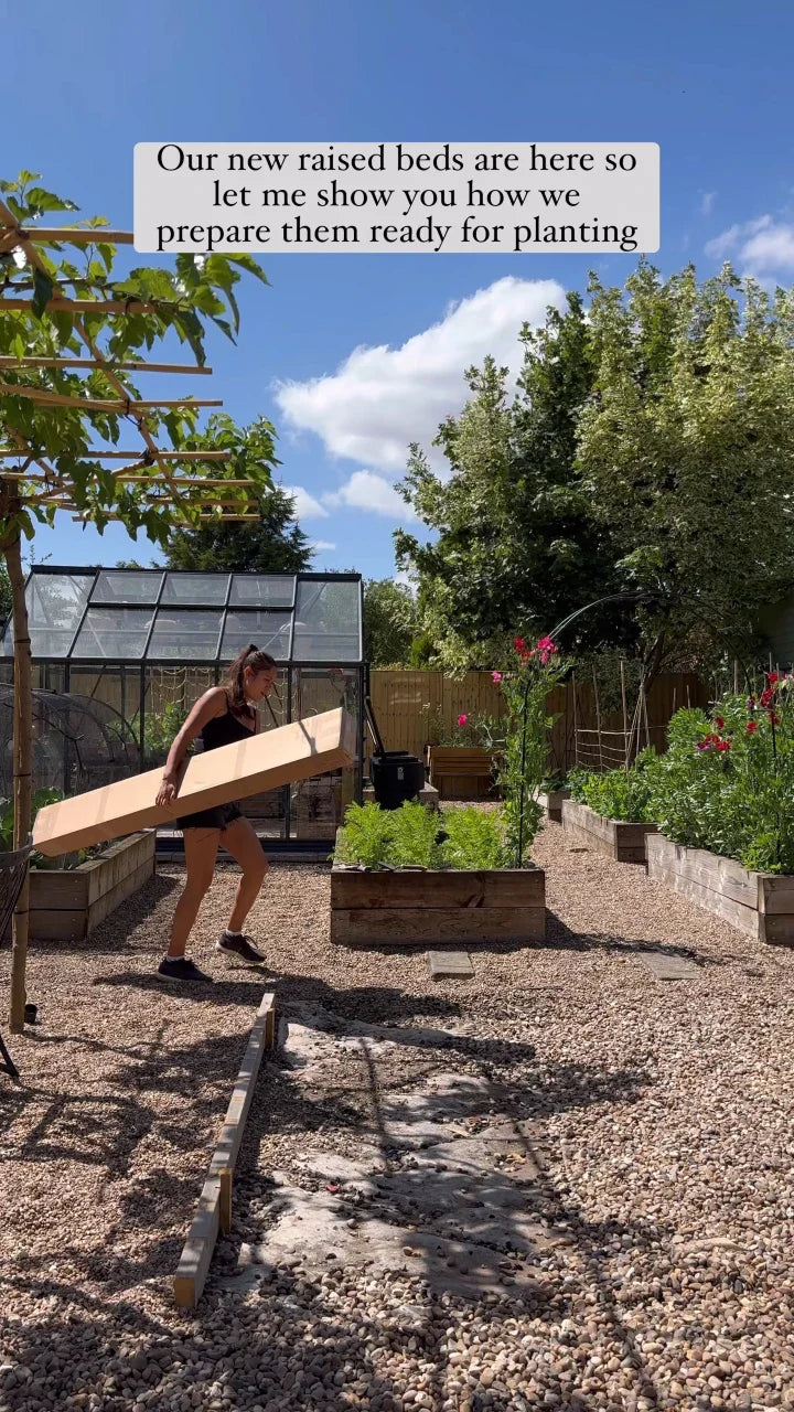
<path fill-rule="evenodd" d="M 444 666 L 489 666 L 516 624 L 548 628 L 619 586 L 608 530 L 593 520 L 575 467 L 576 419 L 592 385 L 592 357 L 579 295 L 550 308 L 545 328 L 520 333 L 519 390 L 486 357 L 469 369 L 472 397 L 434 445 L 451 476 L 434 474 L 411 446 L 400 490 L 434 532 L 431 542 L 398 530 L 400 566 L 418 578 L 422 627 Z M 583 617 L 568 647 L 593 647 L 624 631 L 615 611 Z"/>

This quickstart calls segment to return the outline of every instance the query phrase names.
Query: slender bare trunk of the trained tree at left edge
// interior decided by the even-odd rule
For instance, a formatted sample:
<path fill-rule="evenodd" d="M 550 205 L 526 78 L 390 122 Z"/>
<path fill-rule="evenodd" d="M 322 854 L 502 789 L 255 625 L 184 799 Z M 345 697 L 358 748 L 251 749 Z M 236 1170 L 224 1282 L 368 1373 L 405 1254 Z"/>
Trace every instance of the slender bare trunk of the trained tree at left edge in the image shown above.
<path fill-rule="evenodd" d="M 14 609 L 14 849 L 24 849 L 32 813 L 32 666 L 25 603 L 25 579 L 18 531 L 6 542 L 6 566 L 11 580 Z M 11 950 L 11 1034 L 20 1035 L 25 1024 L 25 962 L 28 950 L 30 871 L 13 921 Z"/>

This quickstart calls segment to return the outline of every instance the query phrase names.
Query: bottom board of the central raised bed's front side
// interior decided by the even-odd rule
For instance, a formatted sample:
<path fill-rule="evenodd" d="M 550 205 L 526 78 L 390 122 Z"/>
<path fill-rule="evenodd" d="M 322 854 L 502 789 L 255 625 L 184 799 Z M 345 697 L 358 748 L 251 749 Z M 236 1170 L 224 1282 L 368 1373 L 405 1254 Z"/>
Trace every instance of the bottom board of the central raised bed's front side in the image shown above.
<path fill-rule="evenodd" d="M 343 946 L 530 942 L 545 938 L 545 907 L 332 908 L 331 940 Z"/>

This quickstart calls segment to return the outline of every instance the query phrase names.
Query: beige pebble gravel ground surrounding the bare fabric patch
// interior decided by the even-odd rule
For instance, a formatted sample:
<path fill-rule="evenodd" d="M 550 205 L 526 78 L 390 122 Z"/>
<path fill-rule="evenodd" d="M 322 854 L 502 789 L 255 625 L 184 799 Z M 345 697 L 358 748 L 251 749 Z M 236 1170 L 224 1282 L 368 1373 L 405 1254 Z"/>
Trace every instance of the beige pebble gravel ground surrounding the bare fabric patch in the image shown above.
<path fill-rule="evenodd" d="M 153 979 L 178 870 L 85 949 L 34 947 L 41 1025 L 10 1036 L 27 1087 L 0 1075 L 0 1412 L 794 1406 L 794 955 L 555 825 L 535 860 L 547 943 L 475 953 L 465 981 L 431 981 L 421 952 L 331 947 L 326 868 L 273 868 L 249 929 L 283 1012 L 397 1043 L 301 1082 L 267 1062 L 196 1316 L 171 1276 L 267 981 L 212 952 L 233 873 L 199 919 L 194 955 L 220 981 L 201 998 Z M 660 945 L 698 977 L 656 981 L 641 953 Z M 6 949 L 3 995 L 7 974 Z M 377 1106 L 444 1066 L 492 1084 L 492 1117 L 526 1135 L 538 1214 L 568 1237 L 537 1285 L 507 1272 L 472 1299 L 421 1265 L 285 1265 L 227 1288 L 267 1230 L 273 1171 L 295 1176 L 308 1147 L 355 1158 Z"/>

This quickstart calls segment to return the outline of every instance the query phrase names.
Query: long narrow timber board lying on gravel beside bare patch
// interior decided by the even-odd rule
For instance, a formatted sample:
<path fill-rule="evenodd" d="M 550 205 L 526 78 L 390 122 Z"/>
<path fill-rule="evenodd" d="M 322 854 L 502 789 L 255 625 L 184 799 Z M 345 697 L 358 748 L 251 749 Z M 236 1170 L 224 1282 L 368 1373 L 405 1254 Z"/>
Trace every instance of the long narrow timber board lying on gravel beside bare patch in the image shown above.
<path fill-rule="evenodd" d="M 174 1275 L 174 1302 L 179 1309 L 195 1309 L 206 1284 L 212 1251 L 215 1250 L 220 1230 L 223 1195 L 230 1182 L 230 1176 L 225 1173 L 232 1173 L 235 1169 L 261 1056 L 266 1049 L 273 1048 L 275 1041 L 274 1000 L 273 993 L 266 993 L 261 997 L 237 1082 L 232 1091 L 232 1101 L 223 1120 L 220 1142 L 209 1163 L 196 1214 L 194 1216 L 177 1274 Z"/>

